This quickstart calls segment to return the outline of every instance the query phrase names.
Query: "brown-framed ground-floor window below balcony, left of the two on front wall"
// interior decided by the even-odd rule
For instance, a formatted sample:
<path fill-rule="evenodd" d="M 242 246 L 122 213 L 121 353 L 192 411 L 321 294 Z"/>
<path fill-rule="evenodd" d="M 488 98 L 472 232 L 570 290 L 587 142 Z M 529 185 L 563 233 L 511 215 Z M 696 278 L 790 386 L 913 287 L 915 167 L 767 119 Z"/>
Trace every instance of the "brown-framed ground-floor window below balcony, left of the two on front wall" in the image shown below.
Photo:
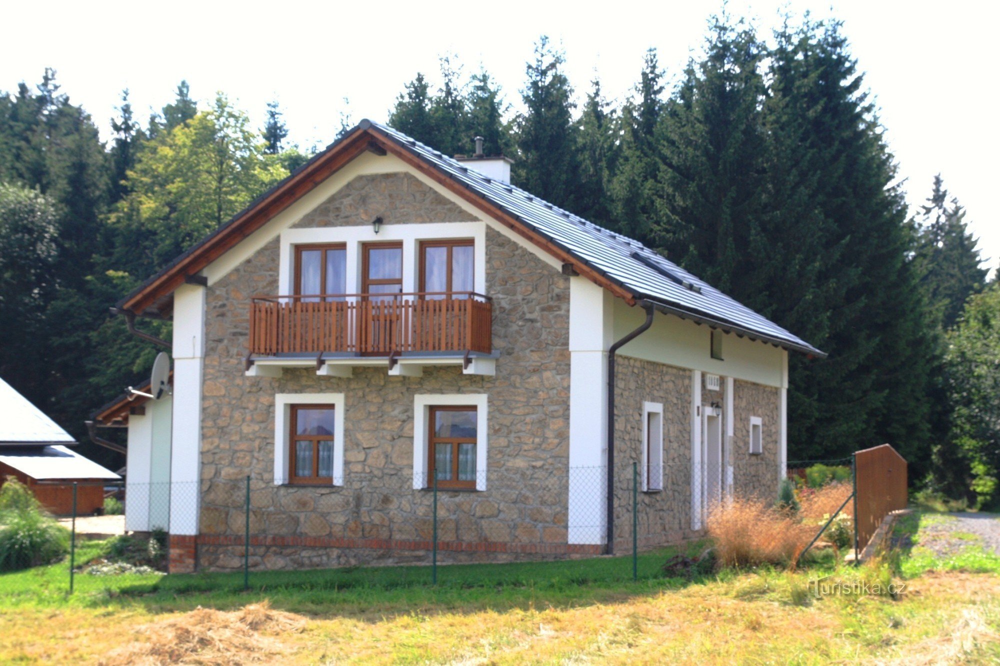
<path fill-rule="evenodd" d="M 291 409 L 289 477 L 292 483 L 333 482 L 333 405 L 301 405 Z"/>

